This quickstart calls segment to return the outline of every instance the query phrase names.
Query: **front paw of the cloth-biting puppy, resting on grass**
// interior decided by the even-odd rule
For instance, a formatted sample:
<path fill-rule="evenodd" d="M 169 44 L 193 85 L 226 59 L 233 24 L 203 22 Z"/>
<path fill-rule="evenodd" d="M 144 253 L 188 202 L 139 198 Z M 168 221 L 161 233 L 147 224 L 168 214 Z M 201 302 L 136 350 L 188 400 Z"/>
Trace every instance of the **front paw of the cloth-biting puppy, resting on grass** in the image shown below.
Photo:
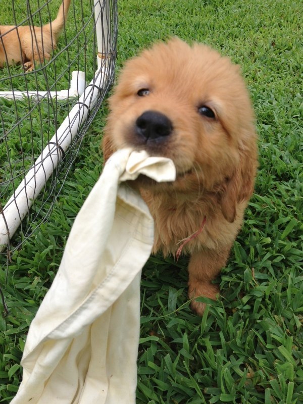
<path fill-rule="evenodd" d="M 219 287 L 211 282 L 201 282 L 198 280 L 192 280 L 188 287 L 188 297 L 193 299 L 190 303 L 190 308 L 198 316 L 202 316 L 206 307 L 206 304 L 201 301 L 196 301 L 195 297 L 208 297 L 213 300 L 217 300 L 219 295 Z"/>

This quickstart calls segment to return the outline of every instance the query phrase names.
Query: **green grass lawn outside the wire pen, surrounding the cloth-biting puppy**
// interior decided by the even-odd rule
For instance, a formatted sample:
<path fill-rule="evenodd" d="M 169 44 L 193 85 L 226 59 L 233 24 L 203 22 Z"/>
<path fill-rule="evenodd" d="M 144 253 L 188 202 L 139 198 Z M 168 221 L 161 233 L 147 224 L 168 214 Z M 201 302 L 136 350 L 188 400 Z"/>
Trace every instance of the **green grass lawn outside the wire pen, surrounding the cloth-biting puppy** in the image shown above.
<path fill-rule="evenodd" d="M 137 404 L 302 404 L 302 30 L 296 1 L 120 0 L 118 68 L 157 39 L 211 44 L 242 66 L 256 110 L 256 191 L 203 318 L 187 301 L 187 259 L 147 262 L 141 286 Z M 16 68 L 17 69 L 17 68 Z M 9 402 L 30 321 L 71 225 L 102 169 L 106 109 L 95 117 L 51 219 L 15 251 L 0 281 L 0 402 Z M 34 226 L 34 223 L 32 224 Z"/>

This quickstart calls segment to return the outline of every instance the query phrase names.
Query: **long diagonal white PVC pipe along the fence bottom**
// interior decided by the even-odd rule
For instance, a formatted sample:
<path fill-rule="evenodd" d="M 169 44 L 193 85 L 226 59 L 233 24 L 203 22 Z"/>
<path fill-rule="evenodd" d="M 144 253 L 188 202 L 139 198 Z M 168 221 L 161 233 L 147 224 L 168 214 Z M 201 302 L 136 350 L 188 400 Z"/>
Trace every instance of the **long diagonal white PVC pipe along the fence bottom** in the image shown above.
<path fill-rule="evenodd" d="M 102 68 L 96 71 L 94 79 L 85 88 L 79 102 L 72 108 L 57 133 L 44 148 L 4 207 L 3 212 L 0 211 L 0 251 L 12 238 L 32 206 L 33 200 L 62 159 L 62 151 L 67 150 L 83 121 L 87 118 L 88 112 L 95 105 L 99 89 L 104 87 L 104 83 L 111 77 L 111 72 L 106 72 L 109 66 L 113 65 L 103 63 Z"/>

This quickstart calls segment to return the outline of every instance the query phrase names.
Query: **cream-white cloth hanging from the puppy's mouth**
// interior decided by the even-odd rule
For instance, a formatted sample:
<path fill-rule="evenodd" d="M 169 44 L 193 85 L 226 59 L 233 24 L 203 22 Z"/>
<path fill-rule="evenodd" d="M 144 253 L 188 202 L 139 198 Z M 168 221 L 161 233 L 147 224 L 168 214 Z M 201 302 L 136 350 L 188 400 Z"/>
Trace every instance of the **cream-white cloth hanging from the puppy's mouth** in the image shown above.
<path fill-rule="evenodd" d="M 171 160 L 145 151 L 123 149 L 108 160 L 31 323 L 11 404 L 135 403 L 140 275 L 154 221 L 121 181 L 140 173 L 157 181 L 176 175 Z"/>

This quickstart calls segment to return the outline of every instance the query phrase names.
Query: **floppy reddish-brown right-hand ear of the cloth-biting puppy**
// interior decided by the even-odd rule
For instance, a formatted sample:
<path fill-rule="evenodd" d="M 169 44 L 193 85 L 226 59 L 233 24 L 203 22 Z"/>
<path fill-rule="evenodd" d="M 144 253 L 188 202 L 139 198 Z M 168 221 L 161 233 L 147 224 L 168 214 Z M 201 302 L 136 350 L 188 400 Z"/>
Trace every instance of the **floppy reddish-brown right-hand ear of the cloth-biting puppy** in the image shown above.
<path fill-rule="evenodd" d="M 236 218 L 238 203 L 248 200 L 254 191 L 256 168 L 256 148 L 252 145 L 249 151 L 241 151 L 239 163 L 231 178 L 227 179 L 221 197 L 223 216 L 230 223 Z"/>

